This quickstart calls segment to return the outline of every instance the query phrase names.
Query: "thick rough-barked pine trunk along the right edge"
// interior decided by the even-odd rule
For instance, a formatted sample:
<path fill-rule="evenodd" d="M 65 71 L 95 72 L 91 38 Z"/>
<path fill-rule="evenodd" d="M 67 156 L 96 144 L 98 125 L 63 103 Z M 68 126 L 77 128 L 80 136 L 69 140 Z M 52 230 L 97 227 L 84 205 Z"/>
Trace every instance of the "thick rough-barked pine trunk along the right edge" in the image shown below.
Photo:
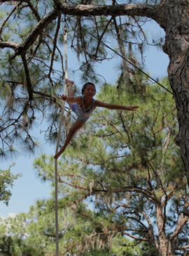
<path fill-rule="evenodd" d="M 174 93 L 181 157 L 189 185 L 189 0 L 167 0 L 158 15 L 158 23 L 166 32 L 164 51 L 170 62 L 169 82 Z M 165 18 L 167 17 L 167 18 Z"/>

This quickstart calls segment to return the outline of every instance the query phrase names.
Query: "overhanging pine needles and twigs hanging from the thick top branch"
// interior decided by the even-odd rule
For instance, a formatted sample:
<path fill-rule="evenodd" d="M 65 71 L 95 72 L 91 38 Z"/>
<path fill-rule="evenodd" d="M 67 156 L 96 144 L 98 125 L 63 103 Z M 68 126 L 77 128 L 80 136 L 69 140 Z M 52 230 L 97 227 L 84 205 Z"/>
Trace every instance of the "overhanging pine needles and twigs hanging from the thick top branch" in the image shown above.
<path fill-rule="evenodd" d="M 113 1 L 63 1 L 66 4 L 102 4 L 113 5 Z M 137 1 L 126 1 L 125 4 Z M 156 4 L 157 1 L 144 1 L 145 4 Z M 143 53 L 150 44 L 162 45 L 161 39 L 153 41 L 142 30 L 144 18 L 72 16 L 62 15 L 60 18 L 43 23 L 47 15 L 56 8 L 55 1 L 34 0 L 26 2 L 3 1 L 1 4 L 1 42 L 6 47 L 1 48 L 0 59 L 0 157 L 12 155 L 21 145 L 21 150 L 34 153 L 38 148 L 37 141 L 31 135 L 36 119 L 47 122 L 46 141 L 55 141 L 59 123 L 59 102 L 57 95 L 64 84 L 64 30 L 69 31 L 68 46 L 73 55 L 78 57 L 77 77 L 84 81 L 102 82 L 102 77 L 96 73 L 97 63 L 112 60 L 116 54 L 102 44 L 102 41 L 122 41 L 122 49 L 116 46 L 118 52 L 123 49 L 135 64 L 135 53 Z M 42 27 L 41 27 L 42 26 Z M 34 41 L 30 35 L 35 31 Z M 25 44 L 25 53 L 21 54 Z M 152 41 L 152 42 L 151 42 Z M 13 44 L 16 44 L 14 47 Z M 55 51 L 54 51 L 55 50 Z M 25 57 L 25 61 L 23 59 Z M 144 77 L 132 66 L 129 67 L 130 86 L 136 93 L 144 93 Z M 123 60 L 116 75 L 120 76 L 118 87 L 122 84 L 125 74 Z M 142 79 L 141 79 L 142 77 Z M 128 82 L 128 81 L 127 81 Z M 82 81 L 83 83 L 83 81 Z M 125 85 L 123 85 L 125 87 Z M 31 101 L 33 98 L 33 101 Z M 47 115 L 51 113 L 51 115 Z M 66 124 L 65 124 L 66 126 Z M 64 134 L 65 136 L 66 134 Z M 16 145 L 13 146 L 13 141 Z M 23 147 L 22 147 L 23 146 Z"/>

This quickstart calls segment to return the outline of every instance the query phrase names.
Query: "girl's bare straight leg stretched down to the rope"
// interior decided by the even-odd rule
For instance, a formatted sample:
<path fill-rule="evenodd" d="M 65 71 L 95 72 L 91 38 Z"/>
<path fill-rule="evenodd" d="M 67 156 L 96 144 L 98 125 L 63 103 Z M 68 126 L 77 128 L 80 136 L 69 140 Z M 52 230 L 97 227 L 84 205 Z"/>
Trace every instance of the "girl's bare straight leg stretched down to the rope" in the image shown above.
<path fill-rule="evenodd" d="M 59 155 L 61 155 L 66 147 L 69 145 L 71 139 L 73 138 L 74 134 L 76 134 L 76 132 L 78 131 L 78 129 L 80 129 L 81 127 L 83 127 L 83 125 L 85 124 L 85 122 L 82 122 L 80 120 L 76 120 L 76 122 L 73 123 L 71 129 L 69 130 L 69 133 L 66 137 L 66 141 L 64 142 L 64 146 L 62 146 L 59 149 L 59 152 L 57 152 L 57 154 L 54 156 L 55 159 L 59 158 Z"/>

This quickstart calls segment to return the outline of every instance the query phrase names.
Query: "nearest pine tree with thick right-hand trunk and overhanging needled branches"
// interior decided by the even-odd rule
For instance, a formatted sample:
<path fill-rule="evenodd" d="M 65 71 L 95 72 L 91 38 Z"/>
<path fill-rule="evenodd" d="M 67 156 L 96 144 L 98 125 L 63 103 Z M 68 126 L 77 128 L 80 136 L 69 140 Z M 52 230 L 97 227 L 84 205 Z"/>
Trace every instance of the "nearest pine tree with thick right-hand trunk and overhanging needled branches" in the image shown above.
<path fill-rule="evenodd" d="M 78 57 L 83 56 L 80 70 L 83 79 L 95 77 L 92 64 L 109 58 L 104 41 L 116 40 L 124 58 L 123 79 L 127 87 L 135 63 L 133 49 L 141 54 L 147 43 L 161 44 L 162 39 L 148 42 L 142 25 L 155 20 L 165 30 L 163 51 L 168 54 L 169 82 L 179 119 L 181 156 L 189 177 L 188 136 L 188 0 L 165 1 L 0 1 L 1 16 L 1 155 L 13 152 L 13 138 L 34 151 L 36 141 L 29 128 L 36 112 L 50 108 L 53 117 L 50 133 L 56 128 L 56 93 L 64 77 L 62 24 L 70 30 L 70 44 Z M 179 13 L 182 13 L 179 15 Z M 59 62 L 59 67 L 55 63 Z M 137 83 L 137 85 L 139 85 Z M 132 84 L 133 87 L 133 84 Z M 41 103 L 42 101 L 42 103 Z M 45 110 L 44 110 L 45 108 Z M 22 131 L 22 133 L 21 133 Z M 22 135 L 20 135 L 22 134 Z"/>

